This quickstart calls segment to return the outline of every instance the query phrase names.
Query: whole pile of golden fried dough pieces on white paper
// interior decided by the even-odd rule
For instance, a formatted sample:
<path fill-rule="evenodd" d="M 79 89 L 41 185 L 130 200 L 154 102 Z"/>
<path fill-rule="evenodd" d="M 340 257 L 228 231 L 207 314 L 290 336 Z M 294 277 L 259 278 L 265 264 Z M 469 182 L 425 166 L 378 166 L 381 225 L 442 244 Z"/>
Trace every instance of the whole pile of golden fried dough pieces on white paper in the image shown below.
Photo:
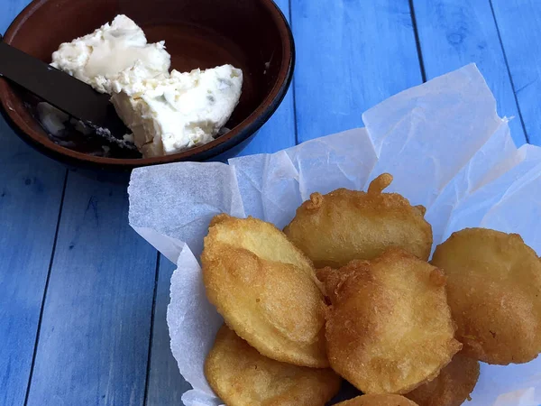
<path fill-rule="evenodd" d="M 488 364 L 541 352 L 541 261 L 519 235 L 469 228 L 436 247 L 425 208 L 314 193 L 283 231 L 220 214 L 201 256 L 225 324 L 206 379 L 228 406 L 458 406 Z"/>

